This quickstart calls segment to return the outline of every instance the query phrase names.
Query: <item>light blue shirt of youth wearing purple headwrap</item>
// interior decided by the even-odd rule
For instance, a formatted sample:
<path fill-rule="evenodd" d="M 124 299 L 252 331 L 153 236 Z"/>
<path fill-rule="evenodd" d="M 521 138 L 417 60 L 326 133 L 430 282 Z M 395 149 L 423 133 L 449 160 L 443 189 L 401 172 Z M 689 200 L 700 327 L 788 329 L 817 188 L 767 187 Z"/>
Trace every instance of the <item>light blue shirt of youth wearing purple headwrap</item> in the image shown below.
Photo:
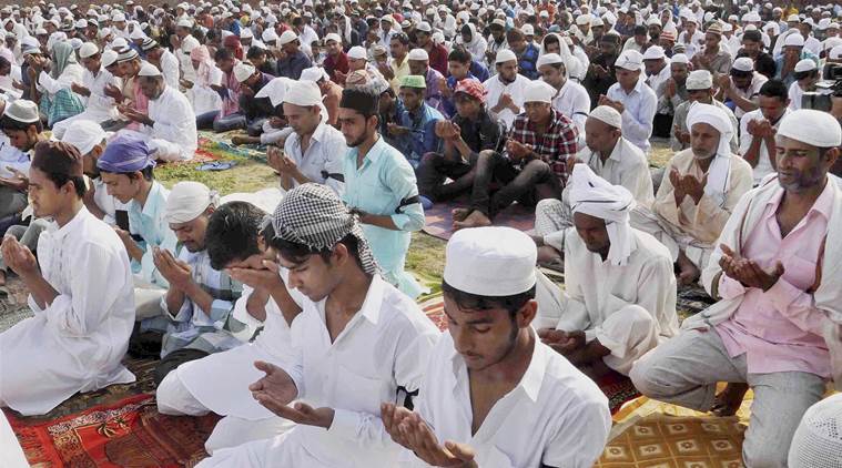
<path fill-rule="evenodd" d="M 128 205 L 129 232 L 143 238 L 138 243 L 143 250 L 143 257 L 140 262 L 132 260 L 132 273 L 161 287 L 169 287 L 170 283 L 158 272 L 152 261 L 152 248 L 161 247 L 175 252 L 176 244 L 175 233 L 170 230 L 170 224 L 164 217 L 168 196 L 170 196 L 169 190 L 158 182 L 152 182 L 152 189 L 143 206 L 134 200 Z"/>

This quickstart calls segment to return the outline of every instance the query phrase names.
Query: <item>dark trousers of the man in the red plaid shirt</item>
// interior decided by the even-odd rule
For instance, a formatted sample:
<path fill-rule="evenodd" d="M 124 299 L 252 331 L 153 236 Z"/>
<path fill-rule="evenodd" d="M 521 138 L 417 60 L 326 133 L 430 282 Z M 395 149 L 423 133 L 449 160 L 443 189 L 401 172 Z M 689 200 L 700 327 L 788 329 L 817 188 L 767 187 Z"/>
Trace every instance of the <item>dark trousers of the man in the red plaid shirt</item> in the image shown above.
<path fill-rule="evenodd" d="M 491 195 L 491 184 L 500 189 Z M 477 157 L 470 208 L 489 218 L 517 201 L 535 206 L 539 200 L 561 196 L 561 184 L 549 164 L 532 160 L 518 170 L 511 161 L 495 151 L 483 151 Z"/>

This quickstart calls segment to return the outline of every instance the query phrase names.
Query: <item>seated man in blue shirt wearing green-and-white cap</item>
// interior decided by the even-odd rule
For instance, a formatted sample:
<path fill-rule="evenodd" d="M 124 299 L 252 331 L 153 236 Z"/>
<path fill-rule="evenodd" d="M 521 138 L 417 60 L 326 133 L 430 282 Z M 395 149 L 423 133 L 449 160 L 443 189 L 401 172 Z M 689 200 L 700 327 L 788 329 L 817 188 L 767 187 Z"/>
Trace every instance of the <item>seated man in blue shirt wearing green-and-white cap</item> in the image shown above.
<path fill-rule="evenodd" d="M 418 167 L 423 155 L 438 151 L 442 143 L 436 134 L 436 124 L 445 121 L 445 118 L 424 102 L 426 88 L 424 77 L 407 74 L 402 78 L 400 101 L 404 103 L 404 112 L 400 114 L 400 124 L 388 125 L 389 133 L 398 143 L 398 150 L 413 169 Z"/>

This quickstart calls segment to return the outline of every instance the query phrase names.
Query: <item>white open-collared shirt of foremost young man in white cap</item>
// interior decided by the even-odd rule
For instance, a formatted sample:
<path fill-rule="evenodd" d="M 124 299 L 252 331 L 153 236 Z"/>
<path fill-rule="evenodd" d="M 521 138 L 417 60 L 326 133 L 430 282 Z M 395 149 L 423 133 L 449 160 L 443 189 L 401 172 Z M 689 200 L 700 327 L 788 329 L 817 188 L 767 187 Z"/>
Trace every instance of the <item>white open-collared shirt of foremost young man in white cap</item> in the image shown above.
<path fill-rule="evenodd" d="M 537 337 L 520 381 L 494 404 L 476 434 L 468 369 L 448 333 L 433 352 L 417 401 L 416 410 L 439 444 L 469 445 L 480 467 L 590 468 L 611 429 L 599 387 Z M 428 466 L 408 450 L 402 459 Z"/>

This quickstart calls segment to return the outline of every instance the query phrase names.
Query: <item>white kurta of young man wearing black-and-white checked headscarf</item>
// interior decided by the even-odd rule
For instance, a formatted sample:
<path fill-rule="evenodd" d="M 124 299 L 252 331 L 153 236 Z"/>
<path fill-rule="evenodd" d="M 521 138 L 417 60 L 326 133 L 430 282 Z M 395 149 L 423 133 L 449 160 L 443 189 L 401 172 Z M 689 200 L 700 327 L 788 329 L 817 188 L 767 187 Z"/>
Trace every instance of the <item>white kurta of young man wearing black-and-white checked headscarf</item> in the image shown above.
<path fill-rule="evenodd" d="M 390 467 L 400 446 L 383 427 L 383 401 L 419 388 L 440 333 L 406 295 L 375 276 L 363 307 L 331 343 L 325 301 L 305 301 L 284 359 L 300 398 L 334 408 L 333 425 L 298 425 L 271 440 L 219 450 L 200 467 Z"/>

